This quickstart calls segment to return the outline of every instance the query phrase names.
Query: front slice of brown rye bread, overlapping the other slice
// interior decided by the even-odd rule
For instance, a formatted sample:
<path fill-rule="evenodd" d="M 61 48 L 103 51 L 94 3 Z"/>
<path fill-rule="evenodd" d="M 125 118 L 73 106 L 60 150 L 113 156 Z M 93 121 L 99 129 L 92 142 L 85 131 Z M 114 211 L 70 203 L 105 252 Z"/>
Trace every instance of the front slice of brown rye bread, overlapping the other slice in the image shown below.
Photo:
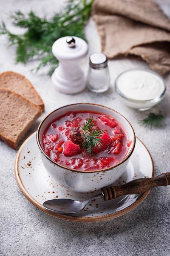
<path fill-rule="evenodd" d="M 42 109 L 17 93 L 0 88 L 0 138 L 17 149 Z"/>

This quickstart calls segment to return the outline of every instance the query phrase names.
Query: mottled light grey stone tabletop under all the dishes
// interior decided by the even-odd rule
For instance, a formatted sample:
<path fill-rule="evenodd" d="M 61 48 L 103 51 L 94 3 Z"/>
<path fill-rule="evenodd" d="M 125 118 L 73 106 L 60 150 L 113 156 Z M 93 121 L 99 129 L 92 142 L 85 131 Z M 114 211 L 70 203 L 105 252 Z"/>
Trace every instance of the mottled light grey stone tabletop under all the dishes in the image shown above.
<path fill-rule="evenodd" d="M 170 1 L 157 2 L 161 4 L 164 12 L 170 15 Z M 27 13 L 33 9 L 40 15 L 47 14 L 50 17 L 62 4 L 63 1 L 59 0 L 1 0 L 0 20 L 5 20 L 10 28 L 10 21 L 7 19 L 9 12 L 19 9 Z M 89 21 L 85 31 L 90 55 L 100 50 L 100 41 L 93 20 Z M 155 113 L 161 111 L 166 116 L 164 127 L 150 130 L 138 124 L 138 120 L 144 118 L 148 111 L 142 113 L 123 106 L 113 90 L 114 79 L 123 70 L 131 67 L 148 68 L 143 61 L 109 61 L 112 83 L 108 92 L 97 95 L 85 90 L 79 95 L 68 96 L 54 89 L 50 76 L 44 73 L 31 73 L 31 68 L 37 63 L 14 65 L 15 47 L 7 46 L 6 36 L 1 36 L 0 72 L 13 70 L 31 80 L 45 103 L 43 116 L 55 108 L 75 102 L 94 102 L 114 108 L 129 119 L 136 135 L 149 149 L 156 175 L 170 171 L 170 76 L 164 77 L 168 86 L 166 97 L 153 109 Z M 87 72 L 88 57 L 82 66 Z M 29 134 L 37 129 L 40 120 Z M 16 154 L 17 151 L 0 141 L 0 255 L 170 255 L 170 187 L 151 191 L 139 207 L 120 218 L 99 223 L 62 221 L 38 210 L 20 192 L 14 177 Z"/>

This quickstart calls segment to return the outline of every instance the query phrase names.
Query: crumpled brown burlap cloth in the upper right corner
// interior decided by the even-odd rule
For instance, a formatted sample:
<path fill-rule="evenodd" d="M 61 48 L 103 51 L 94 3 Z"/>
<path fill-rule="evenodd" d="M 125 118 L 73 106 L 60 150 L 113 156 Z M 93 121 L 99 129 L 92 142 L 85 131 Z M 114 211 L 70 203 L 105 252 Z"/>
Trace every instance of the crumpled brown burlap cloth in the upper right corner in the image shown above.
<path fill-rule="evenodd" d="M 137 55 L 170 72 L 170 20 L 153 0 L 94 0 L 92 16 L 108 58 Z"/>

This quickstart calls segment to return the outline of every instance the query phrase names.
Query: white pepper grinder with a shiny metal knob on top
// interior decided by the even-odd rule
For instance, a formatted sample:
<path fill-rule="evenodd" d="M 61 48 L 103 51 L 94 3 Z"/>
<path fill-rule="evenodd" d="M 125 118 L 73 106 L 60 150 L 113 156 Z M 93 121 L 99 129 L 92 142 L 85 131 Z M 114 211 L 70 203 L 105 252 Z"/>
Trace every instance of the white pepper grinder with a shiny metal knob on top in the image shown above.
<path fill-rule="evenodd" d="M 59 60 L 59 65 L 51 77 L 57 90 L 66 94 L 84 90 L 85 74 L 79 61 L 88 53 L 87 43 L 76 36 L 65 36 L 54 42 L 52 52 Z"/>

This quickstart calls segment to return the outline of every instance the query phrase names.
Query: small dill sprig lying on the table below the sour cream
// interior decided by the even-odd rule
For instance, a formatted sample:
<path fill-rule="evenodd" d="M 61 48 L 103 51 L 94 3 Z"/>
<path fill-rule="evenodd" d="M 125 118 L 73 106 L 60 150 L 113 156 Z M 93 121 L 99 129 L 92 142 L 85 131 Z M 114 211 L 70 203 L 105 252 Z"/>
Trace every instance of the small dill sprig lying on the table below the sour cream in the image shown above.
<path fill-rule="evenodd" d="M 139 123 L 142 125 L 149 125 L 153 127 L 159 127 L 162 124 L 164 116 L 161 114 L 156 115 L 155 113 L 149 113 L 147 118 L 140 120 Z"/>

